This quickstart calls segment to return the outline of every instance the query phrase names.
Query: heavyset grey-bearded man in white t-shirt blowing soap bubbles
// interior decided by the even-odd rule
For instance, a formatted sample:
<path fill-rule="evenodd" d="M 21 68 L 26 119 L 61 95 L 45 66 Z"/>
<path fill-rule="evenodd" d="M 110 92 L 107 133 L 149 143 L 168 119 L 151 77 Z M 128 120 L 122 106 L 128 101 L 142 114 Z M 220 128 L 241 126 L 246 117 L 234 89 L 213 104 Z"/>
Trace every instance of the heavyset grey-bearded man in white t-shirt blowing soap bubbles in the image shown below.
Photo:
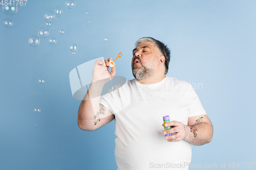
<path fill-rule="evenodd" d="M 135 79 L 100 94 L 116 74 L 108 60 L 95 62 L 92 84 L 78 111 L 78 125 L 95 130 L 115 118 L 118 169 L 188 169 L 191 144 L 212 139 L 212 125 L 191 84 L 165 76 L 170 52 L 162 42 L 143 37 L 133 50 Z M 118 89 L 118 90 L 117 90 Z M 163 129 L 163 116 L 170 122 Z M 161 126 L 162 124 L 162 126 Z M 164 137 L 164 134 L 172 134 Z"/>

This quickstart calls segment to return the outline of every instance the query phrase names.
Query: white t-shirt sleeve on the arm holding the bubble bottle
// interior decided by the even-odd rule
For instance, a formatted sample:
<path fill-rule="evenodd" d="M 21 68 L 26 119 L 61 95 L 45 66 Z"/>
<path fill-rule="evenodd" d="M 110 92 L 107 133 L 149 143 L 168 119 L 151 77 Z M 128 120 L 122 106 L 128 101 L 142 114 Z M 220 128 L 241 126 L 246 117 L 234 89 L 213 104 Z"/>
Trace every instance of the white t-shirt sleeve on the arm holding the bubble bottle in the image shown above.
<path fill-rule="evenodd" d="M 190 103 L 188 105 L 188 117 L 206 114 L 196 91 L 190 83 L 188 85 L 188 99 Z"/>

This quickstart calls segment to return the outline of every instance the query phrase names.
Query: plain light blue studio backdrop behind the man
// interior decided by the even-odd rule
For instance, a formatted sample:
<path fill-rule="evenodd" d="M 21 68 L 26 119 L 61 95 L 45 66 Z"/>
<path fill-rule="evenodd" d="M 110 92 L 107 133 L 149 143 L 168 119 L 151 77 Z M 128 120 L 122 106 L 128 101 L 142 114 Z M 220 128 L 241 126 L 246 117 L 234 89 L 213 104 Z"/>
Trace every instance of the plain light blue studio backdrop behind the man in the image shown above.
<path fill-rule="evenodd" d="M 115 122 L 95 131 L 78 127 L 81 101 L 72 96 L 69 72 L 121 52 L 116 76 L 133 79 L 132 50 L 144 36 L 167 44 L 167 76 L 194 86 L 214 126 L 210 143 L 193 146 L 191 164 L 230 169 L 229 163 L 255 162 L 256 1 L 76 0 L 73 9 L 65 3 L 28 0 L 15 15 L 0 11 L 0 169 L 117 169 Z M 55 7 L 63 14 L 50 35 L 30 46 L 29 37 L 46 27 L 44 14 Z M 4 27 L 6 18 L 13 27 Z"/>

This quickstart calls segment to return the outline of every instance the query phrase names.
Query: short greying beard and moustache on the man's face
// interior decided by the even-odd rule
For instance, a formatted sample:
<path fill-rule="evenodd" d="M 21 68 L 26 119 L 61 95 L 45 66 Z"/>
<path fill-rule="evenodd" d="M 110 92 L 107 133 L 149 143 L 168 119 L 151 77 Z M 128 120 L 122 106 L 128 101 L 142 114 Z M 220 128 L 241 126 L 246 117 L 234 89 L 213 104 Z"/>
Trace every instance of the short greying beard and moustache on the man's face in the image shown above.
<path fill-rule="evenodd" d="M 140 61 L 139 58 L 134 58 L 138 59 Z M 140 61 L 141 67 L 139 68 L 138 64 L 134 64 L 132 65 L 132 70 L 133 70 L 133 76 L 136 80 L 144 80 L 147 79 L 151 76 L 154 76 L 154 70 L 155 70 L 155 66 L 154 66 L 154 61 L 152 62 L 152 65 L 149 67 L 144 66 L 141 61 Z"/>

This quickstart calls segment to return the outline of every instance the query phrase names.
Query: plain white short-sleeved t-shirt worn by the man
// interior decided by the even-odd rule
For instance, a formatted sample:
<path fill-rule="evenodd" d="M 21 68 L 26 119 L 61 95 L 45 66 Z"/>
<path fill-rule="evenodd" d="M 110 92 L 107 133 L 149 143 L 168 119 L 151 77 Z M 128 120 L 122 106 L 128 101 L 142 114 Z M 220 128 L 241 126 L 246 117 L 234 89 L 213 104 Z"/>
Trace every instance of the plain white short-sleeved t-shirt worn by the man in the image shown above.
<path fill-rule="evenodd" d="M 206 114 L 190 83 L 168 76 L 155 84 L 133 79 L 115 85 L 100 103 L 115 115 L 118 170 L 188 169 L 191 144 L 168 142 L 162 124 L 165 115 L 187 125 L 188 117 Z"/>

